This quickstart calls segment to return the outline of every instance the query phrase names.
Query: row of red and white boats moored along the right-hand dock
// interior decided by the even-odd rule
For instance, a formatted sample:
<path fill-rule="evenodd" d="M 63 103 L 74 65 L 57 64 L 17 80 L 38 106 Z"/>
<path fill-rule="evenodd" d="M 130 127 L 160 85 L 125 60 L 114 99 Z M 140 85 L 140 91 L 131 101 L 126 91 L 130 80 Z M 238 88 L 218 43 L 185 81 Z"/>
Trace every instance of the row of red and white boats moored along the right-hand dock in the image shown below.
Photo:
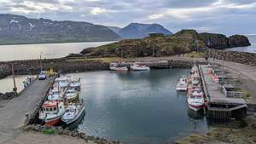
<path fill-rule="evenodd" d="M 205 107 L 205 95 L 202 90 L 201 75 L 198 66 L 193 66 L 189 78 L 179 78 L 178 91 L 186 91 L 188 107 L 195 112 Z"/>

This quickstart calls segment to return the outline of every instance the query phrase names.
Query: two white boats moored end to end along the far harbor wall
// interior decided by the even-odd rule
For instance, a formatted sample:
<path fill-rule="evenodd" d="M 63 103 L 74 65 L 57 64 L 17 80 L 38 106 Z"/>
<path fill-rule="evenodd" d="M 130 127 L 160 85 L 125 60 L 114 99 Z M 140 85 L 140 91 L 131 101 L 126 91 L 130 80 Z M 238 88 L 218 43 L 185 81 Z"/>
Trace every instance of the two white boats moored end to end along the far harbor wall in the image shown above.
<path fill-rule="evenodd" d="M 131 66 L 125 66 L 123 62 L 111 63 L 109 69 L 112 71 L 149 71 L 150 67 L 135 62 Z"/>

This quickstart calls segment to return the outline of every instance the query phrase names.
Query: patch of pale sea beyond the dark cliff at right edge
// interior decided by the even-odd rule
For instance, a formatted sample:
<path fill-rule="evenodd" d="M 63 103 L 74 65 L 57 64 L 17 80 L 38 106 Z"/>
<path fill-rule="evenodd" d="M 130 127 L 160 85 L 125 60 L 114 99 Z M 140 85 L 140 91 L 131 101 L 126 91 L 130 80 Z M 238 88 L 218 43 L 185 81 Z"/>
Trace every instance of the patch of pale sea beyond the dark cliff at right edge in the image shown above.
<path fill-rule="evenodd" d="M 250 43 L 252 44 L 251 46 L 248 46 L 248 47 L 236 47 L 236 48 L 231 48 L 231 49 L 227 49 L 227 50 L 256 53 L 256 35 L 250 35 L 250 36 L 247 36 L 247 37 L 248 37 Z"/>

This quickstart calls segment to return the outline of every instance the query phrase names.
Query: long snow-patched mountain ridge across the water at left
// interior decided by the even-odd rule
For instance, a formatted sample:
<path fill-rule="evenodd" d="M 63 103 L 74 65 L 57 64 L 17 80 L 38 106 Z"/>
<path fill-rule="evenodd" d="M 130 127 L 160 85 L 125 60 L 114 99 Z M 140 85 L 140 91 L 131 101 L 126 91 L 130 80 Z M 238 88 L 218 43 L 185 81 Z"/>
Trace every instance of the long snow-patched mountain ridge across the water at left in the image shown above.
<path fill-rule="evenodd" d="M 0 14 L 0 44 L 111 41 L 120 37 L 107 26 L 80 21 L 29 19 Z"/>

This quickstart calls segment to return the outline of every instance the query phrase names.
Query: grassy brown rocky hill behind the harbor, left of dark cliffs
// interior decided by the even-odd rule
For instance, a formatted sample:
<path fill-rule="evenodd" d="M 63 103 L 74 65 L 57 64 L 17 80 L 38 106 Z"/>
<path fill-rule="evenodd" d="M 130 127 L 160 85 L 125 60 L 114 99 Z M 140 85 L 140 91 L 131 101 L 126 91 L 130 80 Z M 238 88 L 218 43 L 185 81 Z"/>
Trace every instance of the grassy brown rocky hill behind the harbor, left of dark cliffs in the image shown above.
<path fill-rule="evenodd" d="M 183 30 L 172 36 L 146 37 L 143 39 L 126 39 L 96 48 L 84 49 L 85 56 L 169 56 L 189 53 L 194 50 L 207 49 L 195 30 Z"/>

